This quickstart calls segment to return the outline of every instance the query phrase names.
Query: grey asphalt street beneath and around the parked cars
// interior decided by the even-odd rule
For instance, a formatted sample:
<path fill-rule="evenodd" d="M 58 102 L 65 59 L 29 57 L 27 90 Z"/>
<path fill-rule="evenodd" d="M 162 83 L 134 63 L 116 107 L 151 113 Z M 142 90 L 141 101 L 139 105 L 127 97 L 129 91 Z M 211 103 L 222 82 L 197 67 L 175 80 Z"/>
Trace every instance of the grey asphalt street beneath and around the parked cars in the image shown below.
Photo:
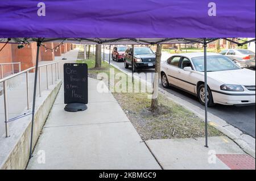
<path fill-rule="evenodd" d="M 104 56 L 102 49 L 102 58 L 103 57 Z M 170 57 L 170 54 L 163 52 L 162 61 L 167 60 L 168 57 Z M 109 61 L 109 49 L 105 49 L 105 60 Z M 118 66 L 118 68 L 122 71 L 131 73 L 131 68 L 125 69 L 123 62 L 112 61 L 112 59 L 110 60 L 110 62 L 111 64 Z M 141 70 L 141 72 L 151 73 L 152 76 L 154 75 L 154 69 L 144 69 Z M 161 83 L 159 83 L 159 86 L 164 89 Z M 198 106 L 204 110 L 204 106 L 199 103 L 195 96 L 174 87 L 164 90 L 178 96 L 181 99 L 187 100 L 189 103 L 192 103 L 193 105 Z M 216 104 L 216 106 L 209 108 L 209 112 L 217 117 L 220 117 L 234 127 L 240 129 L 243 133 L 249 134 L 250 136 L 253 136 L 255 138 L 255 106 L 236 107 Z"/>

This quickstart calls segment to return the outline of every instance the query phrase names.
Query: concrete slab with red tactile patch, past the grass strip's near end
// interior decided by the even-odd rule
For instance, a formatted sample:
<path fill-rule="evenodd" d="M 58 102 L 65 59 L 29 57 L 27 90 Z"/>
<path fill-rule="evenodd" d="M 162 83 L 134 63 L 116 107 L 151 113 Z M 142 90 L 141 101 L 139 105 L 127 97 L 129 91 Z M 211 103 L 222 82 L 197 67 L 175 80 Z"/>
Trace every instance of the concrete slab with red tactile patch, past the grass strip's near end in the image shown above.
<path fill-rule="evenodd" d="M 255 170 L 255 159 L 226 136 L 146 141 L 165 170 Z"/>

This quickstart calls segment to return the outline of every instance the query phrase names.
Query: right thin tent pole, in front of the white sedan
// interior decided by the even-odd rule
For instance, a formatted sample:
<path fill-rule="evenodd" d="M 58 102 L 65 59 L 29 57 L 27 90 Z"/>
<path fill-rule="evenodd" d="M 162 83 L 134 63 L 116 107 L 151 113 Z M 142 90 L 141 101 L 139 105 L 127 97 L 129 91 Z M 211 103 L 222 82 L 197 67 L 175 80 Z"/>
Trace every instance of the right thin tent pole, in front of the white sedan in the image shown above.
<path fill-rule="evenodd" d="M 208 148 L 208 86 L 207 86 L 207 41 L 204 39 L 204 104 L 205 104 L 205 147 Z"/>

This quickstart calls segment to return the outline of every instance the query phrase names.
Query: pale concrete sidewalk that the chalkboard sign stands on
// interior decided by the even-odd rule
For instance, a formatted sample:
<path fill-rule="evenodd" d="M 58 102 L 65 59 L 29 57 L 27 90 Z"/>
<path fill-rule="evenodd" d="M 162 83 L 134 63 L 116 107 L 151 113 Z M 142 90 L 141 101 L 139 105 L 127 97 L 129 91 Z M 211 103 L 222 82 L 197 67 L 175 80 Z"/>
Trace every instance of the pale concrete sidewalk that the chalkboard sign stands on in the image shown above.
<path fill-rule="evenodd" d="M 27 169 L 160 169 L 111 93 L 89 79 L 88 110 L 64 111 L 63 86 Z M 45 154 L 46 163 L 40 163 Z"/>

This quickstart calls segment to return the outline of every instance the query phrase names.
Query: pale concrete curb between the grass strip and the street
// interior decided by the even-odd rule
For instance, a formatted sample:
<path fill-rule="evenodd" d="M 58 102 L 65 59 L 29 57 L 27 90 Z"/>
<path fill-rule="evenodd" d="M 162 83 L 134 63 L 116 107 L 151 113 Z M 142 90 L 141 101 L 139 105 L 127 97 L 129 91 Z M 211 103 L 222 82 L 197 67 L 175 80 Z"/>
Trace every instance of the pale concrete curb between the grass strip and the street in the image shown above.
<path fill-rule="evenodd" d="M 104 60 L 105 61 L 105 60 Z M 105 61 L 108 62 L 108 61 Z M 123 73 L 127 74 L 124 72 L 122 69 L 119 69 L 118 66 L 115 66 L 110 63 L 114 68 L 122 71 Z M 129 74 L 127 74 L 129 75 Z M 139 79 L 138 77 L 134 77 L 135 79 Z M 147 83 L 147 85 L 152 85 L 152 83 L 147 82 L 145 80 L 141 80 L 143 83 Z M 200 107 L 197 107 L 189 102 L 187 100 L 181 99 L 178 96 L 171 94 L 170 92 L 167 92 L 166 90 L 163 90 L 162 88 L 159 87 L 159 91 L 167 95 L 168 99 L 171 99 L 174 101 L 176 104 L 179 104 L 180 106 L 183 106 L 187 110 L 195 113 L 195 115 L 199 116 L 201 119 L 205 119 L 205 112 L 202 110 Z M 218 131 L 224 133 L 227 137 L 229 137 L 232 141 L 234 141 L 240 148 L 245 151 L 245 153 L 251 155 L 251 157 L 255 158 L 255 138 L 243 134 L 238 128 L 233 127 L 229 123 L 227 123 L 225 120 L 222 120 L 220 117 L 217 117 L 213 115 L 212 113 L 208 112 L 208 121 L 209 125 L 212 127 L 218 129 Z"/>

